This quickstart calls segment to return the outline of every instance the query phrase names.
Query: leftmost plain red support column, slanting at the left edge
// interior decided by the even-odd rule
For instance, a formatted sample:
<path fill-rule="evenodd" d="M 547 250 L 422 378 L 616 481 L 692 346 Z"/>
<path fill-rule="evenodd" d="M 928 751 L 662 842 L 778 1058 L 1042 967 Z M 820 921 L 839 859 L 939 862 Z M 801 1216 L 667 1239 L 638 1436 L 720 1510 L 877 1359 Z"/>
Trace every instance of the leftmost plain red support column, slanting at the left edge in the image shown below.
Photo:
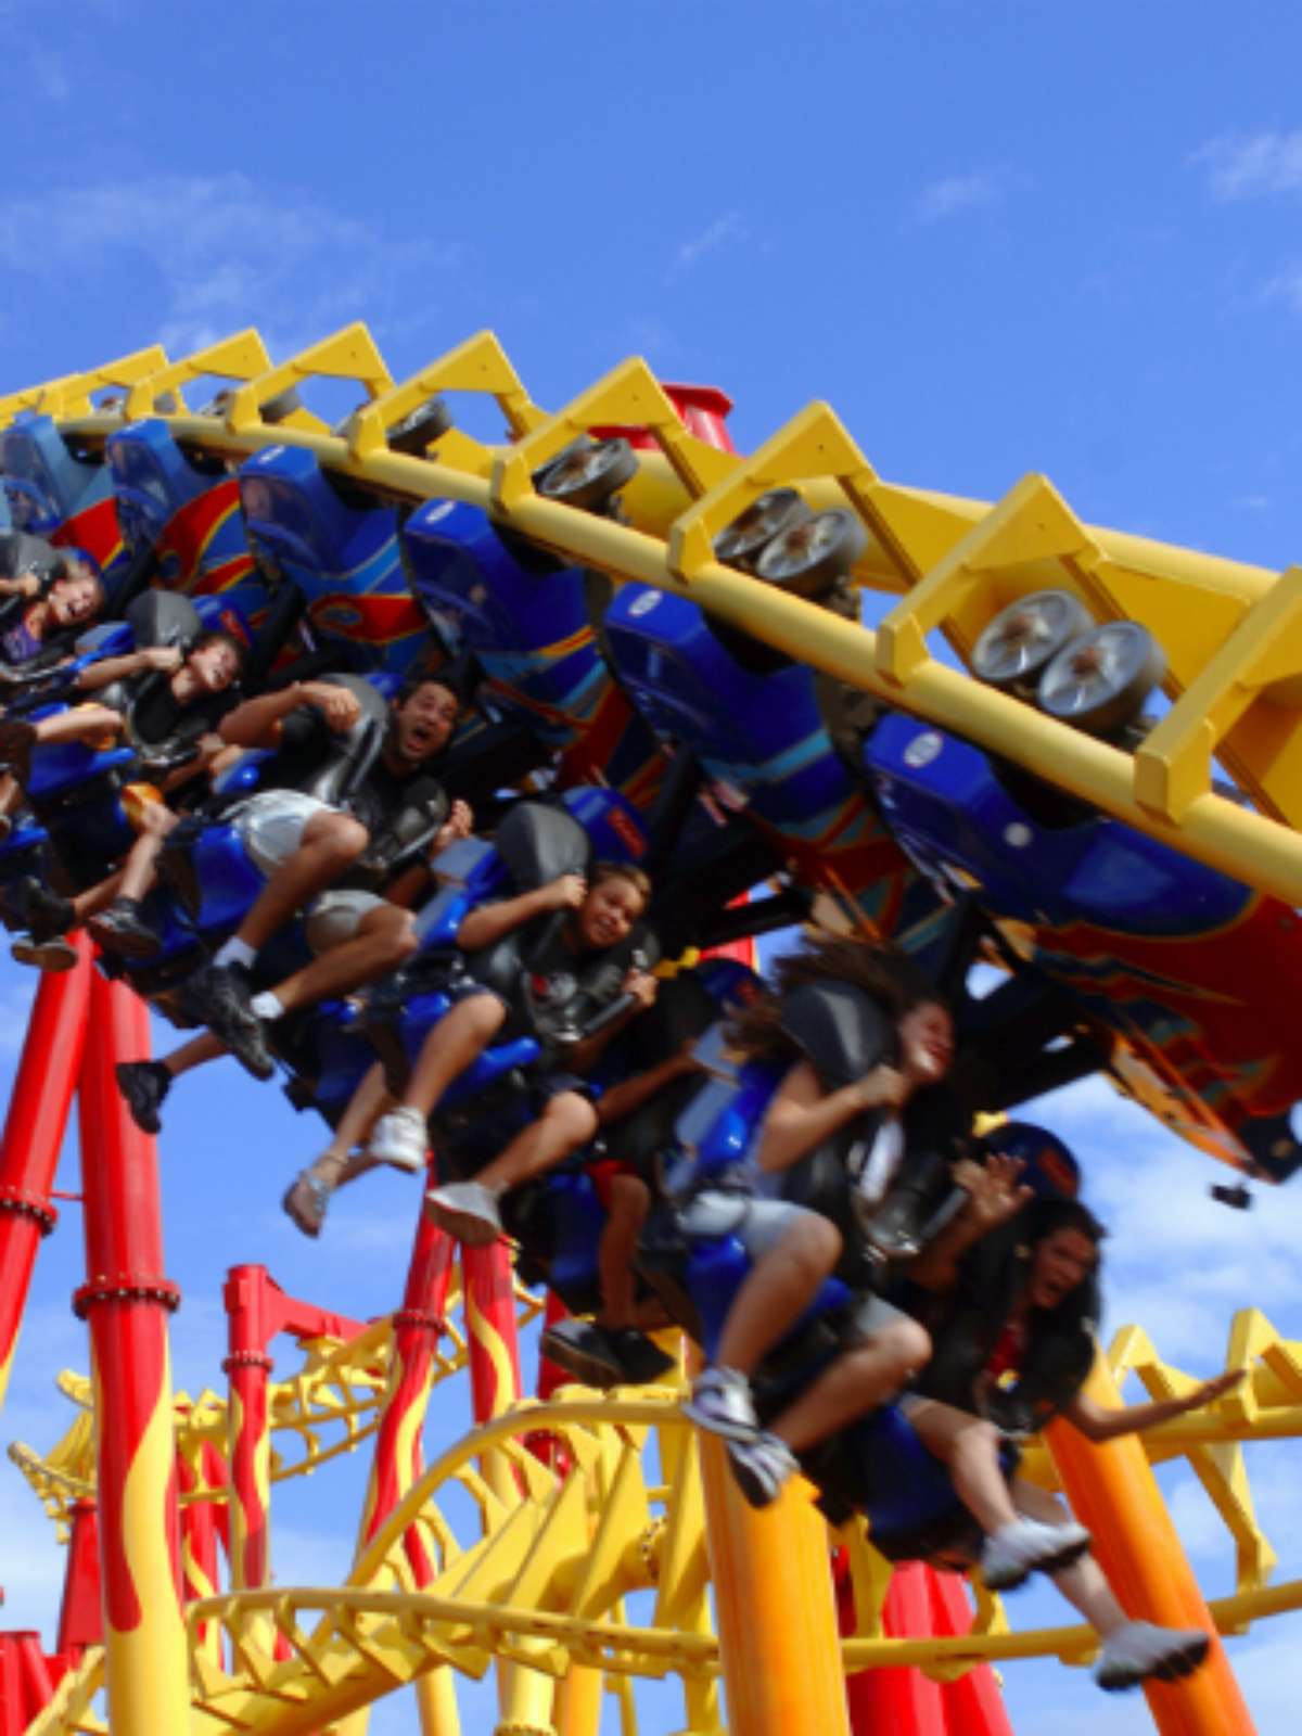
<path fill-rule="evenodd" d="M 71 970 L 40 979 L 0 1142 L 0 1406 L 36 1248 L 56 1222 L 50 1189 L 82 1069 L 90 1002 L 87 941 L 78 943 L 78 955 Z"/>

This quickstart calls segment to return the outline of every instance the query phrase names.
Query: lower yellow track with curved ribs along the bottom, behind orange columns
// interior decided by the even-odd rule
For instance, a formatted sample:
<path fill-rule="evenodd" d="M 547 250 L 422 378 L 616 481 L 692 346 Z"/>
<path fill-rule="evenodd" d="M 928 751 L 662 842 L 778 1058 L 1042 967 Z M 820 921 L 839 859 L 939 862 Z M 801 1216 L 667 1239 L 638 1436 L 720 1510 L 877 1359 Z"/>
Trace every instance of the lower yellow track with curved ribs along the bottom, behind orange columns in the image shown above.
<path fill-rule="evenodd" d="M 1134 1326 L 1118 1332 L 1108 1363 L 1118 1380 L 1135 1373 L 1153 1396 L 1194 1384 Z M 1236 1587 L 1210 1608 L 1222 1634 L 1243 1634 L 1257 1620 L 1302 1608 L 1302 1581 L 1266 1583 L 1274 1552 L 1257 1522 L 1243 1457 L 1250 1443 L 1302 1436 L 1302 1344 L 1246 1309 L 1233 1321 L 1226 1366 L 1248 1368 L 1238 1392 L 1154 1429 L 1144 1446 L 1154 1462 L 1186 1458 L 1226 1521 Z M 538 1430 L 564 1443 L 569 1476 L 521 1444 L 523 1434 Z M 479 1462 L 488 1448 L 510 1463 L 517 1500 L 503 1502 L 484 1479 Z M 1029 1451 L 1026 1470 L 1054 1486 L 1042 1448 Z M 434 1581 L 420 1590 L 403 1549 L 410 1526 L 436 1562 Z M 849 1549 L 854 1583 L 858 1627 L 842 1647 L 847 1670 L 918 1665 L 950 1679 L 984 1661 L 1054 1656 L 1082 1665 L 1094 1654 L 1085 1627 L 1010 1632 L 1002 1602 L 984 1594 L 967 1637 L 887 1639 L 880 1611 L 889 1564 L 859 1521 L 830 1540 Z M 602 1670 L 608 1682 L 674 1674 L 684 1689 L 686 1729 L 717 1733 L 708 1575 L 701 1474 L 677 1394 L 599 1397 L 568 1389 L 556 1403 L 517 1404 L 431 1465 L 344 1587 L 264 1588 L 193 1604 L 193 1731 L 321 1731 L 437 1665 L 477 1677 L 496 1661 L 517 1661 L 557 1677 L 583 1665 Z M 625 1601 L 639 1592 L 649 1597 L 649 1616 L 628 1621 Z M 205 1621 L 222 1630 L 226 1667 L 194 1642 Z M 273 1630 L 292 1651 L 285 1661 L 267 1649 Z M 90 1656 L 31 1736 L 102 1731 L 90 1710 L 99 1670 Z"/>

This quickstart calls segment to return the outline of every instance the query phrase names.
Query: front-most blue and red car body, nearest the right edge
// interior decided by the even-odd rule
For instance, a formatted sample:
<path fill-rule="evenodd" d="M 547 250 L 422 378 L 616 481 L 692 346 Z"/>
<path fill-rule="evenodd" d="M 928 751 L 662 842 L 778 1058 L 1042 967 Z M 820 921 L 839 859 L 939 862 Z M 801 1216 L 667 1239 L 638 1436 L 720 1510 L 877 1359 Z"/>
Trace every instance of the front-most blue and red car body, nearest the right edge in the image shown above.
<path fill-rule="evenodd" d="M 904 715 L 865 767 L 913 861 L 1068 993 L 1134 1097 L 1226 1163 L 1274 1180 L 1302 1163 L 1297 911 L 1108 816 L 1045 818 L 979 748 Z"/>

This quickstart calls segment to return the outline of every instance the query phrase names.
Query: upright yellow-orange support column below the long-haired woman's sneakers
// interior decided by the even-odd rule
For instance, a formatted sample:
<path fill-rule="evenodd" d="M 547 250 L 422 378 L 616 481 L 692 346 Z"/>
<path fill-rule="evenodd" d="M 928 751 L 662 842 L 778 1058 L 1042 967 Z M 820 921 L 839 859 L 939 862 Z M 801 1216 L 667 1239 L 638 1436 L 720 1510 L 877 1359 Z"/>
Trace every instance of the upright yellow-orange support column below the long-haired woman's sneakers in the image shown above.
<path fill-rule="evenodd" d="M 700 1439 L 731 1736 L 849 1736 L 828 1528 L 802 1483 L 755 1512 Z"/>

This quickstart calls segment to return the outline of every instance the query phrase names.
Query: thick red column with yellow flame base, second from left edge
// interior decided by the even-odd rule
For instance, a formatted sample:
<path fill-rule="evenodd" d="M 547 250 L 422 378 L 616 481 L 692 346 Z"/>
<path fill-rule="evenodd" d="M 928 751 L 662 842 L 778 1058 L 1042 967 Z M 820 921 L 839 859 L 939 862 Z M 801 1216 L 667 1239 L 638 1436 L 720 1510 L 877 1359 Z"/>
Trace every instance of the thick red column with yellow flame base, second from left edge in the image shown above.
<path fill-rule="evenodd" d="M 144 1002 L 95 974 L 80 1080 L 87 1283 L 95 1389 L 104 1660 L 113 1736 L 189 1724 L 181 1536 L 155 1141 L 127 1115 L 113 1076 L 149 1052 Z"/>

